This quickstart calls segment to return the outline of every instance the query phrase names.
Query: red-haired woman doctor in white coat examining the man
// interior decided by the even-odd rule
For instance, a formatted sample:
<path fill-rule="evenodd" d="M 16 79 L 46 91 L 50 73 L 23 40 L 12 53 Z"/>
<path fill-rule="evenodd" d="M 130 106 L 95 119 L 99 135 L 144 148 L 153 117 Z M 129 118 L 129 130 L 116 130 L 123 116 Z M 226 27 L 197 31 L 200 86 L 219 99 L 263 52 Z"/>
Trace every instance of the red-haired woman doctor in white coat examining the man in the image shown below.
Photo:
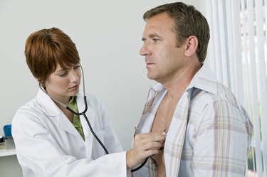
<path fill-rule="evenodd" d="M 40 89 L 18 109 L 12 122 L 23 176 L 124 177 L 159 152 L 165 138 L 161 134 L 135 136 L 132 149 L 122 151 L 104 105 L 91 94 L 83 97 L 79 93 L 83 75 L 80 58 L 66 33 L 58 28 L 32 33 L 25 55 Z M 84 115 L 88 122 L 67 107 L 73 112 L 87 108 Z M 106 155 L 101 143 L 110 154 Z"/>

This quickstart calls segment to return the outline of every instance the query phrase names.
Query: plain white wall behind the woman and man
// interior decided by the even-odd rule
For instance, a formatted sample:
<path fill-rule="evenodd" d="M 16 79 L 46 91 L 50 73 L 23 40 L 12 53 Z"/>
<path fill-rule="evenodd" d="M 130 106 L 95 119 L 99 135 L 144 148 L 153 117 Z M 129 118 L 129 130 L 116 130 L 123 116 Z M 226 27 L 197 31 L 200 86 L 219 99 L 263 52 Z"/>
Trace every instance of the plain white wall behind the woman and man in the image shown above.
<path fill-rule="evenodd" d="M 142 14 L 169 2 L 173 1 L 1 0 L 0 134 L 4 124 L 11 124 L 16 109 L 38 90 L 23 54 L 26 38 L 33 31 L 55 26 L 76 43 L 86 90 L 104 102 L 122 146 L 129 149 L 147 91 L 155 84 L 147 79 L 144 58 L 139 55 L 145 26 Z M 200 5 L 197 0 L 184 2 Z"/>

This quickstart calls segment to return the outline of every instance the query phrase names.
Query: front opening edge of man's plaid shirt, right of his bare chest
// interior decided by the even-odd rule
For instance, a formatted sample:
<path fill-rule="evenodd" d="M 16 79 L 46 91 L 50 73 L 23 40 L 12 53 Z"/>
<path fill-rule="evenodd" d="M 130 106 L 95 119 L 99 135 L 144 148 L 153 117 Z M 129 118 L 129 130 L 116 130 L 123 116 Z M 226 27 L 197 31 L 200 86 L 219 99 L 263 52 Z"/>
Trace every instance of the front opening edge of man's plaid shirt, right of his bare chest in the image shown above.
<path fill-rule="evenodd" d="M 184 92 L 181 100 L 182 104 L 177 104 L 174 117 L 167 132 L 164 144 L 164 160 L 167 177 L 177 177 L 181 161 L 184 136 L 187 131 L 188 109 L 190 102 L 190 90 Z"/>

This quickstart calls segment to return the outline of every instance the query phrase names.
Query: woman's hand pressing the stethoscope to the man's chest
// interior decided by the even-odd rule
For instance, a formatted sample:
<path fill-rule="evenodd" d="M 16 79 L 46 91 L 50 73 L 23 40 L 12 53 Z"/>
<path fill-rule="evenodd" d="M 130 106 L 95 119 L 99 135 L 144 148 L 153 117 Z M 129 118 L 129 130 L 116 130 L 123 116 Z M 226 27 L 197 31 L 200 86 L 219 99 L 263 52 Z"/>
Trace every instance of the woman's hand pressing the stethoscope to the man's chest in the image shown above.
<path fill-rule="evenodd" d="M 127 168 L 143 163 L 149 156 L 158 154 L 164 147 L 165 134 L 136 134 L 132 149 L 126 152 Z"/>

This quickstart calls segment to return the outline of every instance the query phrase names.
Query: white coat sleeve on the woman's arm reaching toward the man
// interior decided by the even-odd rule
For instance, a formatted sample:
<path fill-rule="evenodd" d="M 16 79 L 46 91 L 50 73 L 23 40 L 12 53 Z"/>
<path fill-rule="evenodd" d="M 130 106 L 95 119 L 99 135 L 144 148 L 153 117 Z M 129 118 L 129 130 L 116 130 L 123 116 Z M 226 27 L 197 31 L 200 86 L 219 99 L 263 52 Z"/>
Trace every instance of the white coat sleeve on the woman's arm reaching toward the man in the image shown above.
<path fill-rule="evenodd" d="M 12 122 L 16 152 L 24 176 L 127 176 L 126 153 L 118 152 L 98 159 L 77 159 L 63 152 L 44 127 L 42 119 L 30 111 L 17 112 Z M 62 145 L 62 144 L 61 144 Z M 64 144 L 63 144 L 64 146 Z M 68 146 L 68 144 L 65 144 Z"/>

